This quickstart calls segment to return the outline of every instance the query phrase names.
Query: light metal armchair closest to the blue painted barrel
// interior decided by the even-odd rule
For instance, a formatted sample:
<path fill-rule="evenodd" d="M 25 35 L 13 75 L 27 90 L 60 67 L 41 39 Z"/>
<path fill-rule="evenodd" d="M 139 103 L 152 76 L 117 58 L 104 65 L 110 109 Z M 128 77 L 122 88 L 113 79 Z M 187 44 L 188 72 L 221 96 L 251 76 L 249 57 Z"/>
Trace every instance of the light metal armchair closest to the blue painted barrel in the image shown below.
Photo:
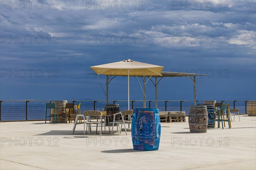
<path fill-rule="evenodd" d="M 125 123 L 128 123 L 128 126 L 130 127 L 131 115 L 132 115 L 132 113 L 133 113 L 133 110 L 125 110 L 125 111 L 122 111 L 122 112 L 118 112 L 118 113 L 113 114 L 114 118 L 113 118 L 113 123 L 112 123 L 112 131 L 111 131 L 111 134 L 113 134 L 113 129 L 114 129 L 114 124 L 115 124 L 115 123 L 121 123 L 120 133 L 122 132 L 122 124 L 123 124 L 124 127 L 125 127 Z M 122 120 L 115 121 L 116 115 L 118 115 L 118 114 L 121 115 Z M 124 119 L 124 116 L 126 116 L 126 115 L 128 116 L 128 120 L 125 120 L 125 119 Z M 116 126 L 119 126 L 119 125 L 116 125 Z M 125 127 L 125 134 L 127 135 L 126 127 Z"/>

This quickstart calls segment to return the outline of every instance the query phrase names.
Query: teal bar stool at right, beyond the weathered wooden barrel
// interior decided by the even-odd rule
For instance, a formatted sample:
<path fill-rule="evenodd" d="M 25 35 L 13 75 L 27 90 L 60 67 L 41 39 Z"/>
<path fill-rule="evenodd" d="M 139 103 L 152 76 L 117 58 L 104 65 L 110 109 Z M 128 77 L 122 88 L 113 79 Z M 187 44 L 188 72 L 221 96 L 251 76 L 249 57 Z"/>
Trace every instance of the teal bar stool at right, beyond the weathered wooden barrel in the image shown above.
<path fill-rule="evenodd" d="M 226 103 L 226 104 L 221 104 L 221 108 L 220 109 L 214 109 L 216 112 L 215 112 L 215 117 L 214 117 L 214 120 L 212 122 L 212 128 L 213 128 L 213 125 L 215 123 L 215 121 L 218 122 L 218 128 L 220 127 L 220 122 L 222 124 L 222 129 L 224 129 L 225 126 L 225 121 L 228 121 L 228 127 L 230 128 L 231 127 L 231 122 L 230 122 L 230 114 L 228 112 L 228 109 L 229 109 L 229 104 Z M 227 119 L 224 119 L 224 113 L 227 114 Z M 223 123 L 224 123 L 224 126 L 223 126 Z"/>

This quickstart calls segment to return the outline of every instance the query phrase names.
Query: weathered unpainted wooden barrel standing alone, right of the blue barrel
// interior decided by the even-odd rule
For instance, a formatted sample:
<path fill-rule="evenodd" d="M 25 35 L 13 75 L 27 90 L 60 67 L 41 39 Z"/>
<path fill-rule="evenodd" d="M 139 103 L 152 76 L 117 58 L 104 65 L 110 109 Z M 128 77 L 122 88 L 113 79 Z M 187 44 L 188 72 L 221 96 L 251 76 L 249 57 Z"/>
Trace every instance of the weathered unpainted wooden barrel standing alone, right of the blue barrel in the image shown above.
<path fill-rule="evenodd" d="M 206 106 L 190 106 L 189 130 L 192 133 L 206 133 L 208 125 L 208 112 Z"/>

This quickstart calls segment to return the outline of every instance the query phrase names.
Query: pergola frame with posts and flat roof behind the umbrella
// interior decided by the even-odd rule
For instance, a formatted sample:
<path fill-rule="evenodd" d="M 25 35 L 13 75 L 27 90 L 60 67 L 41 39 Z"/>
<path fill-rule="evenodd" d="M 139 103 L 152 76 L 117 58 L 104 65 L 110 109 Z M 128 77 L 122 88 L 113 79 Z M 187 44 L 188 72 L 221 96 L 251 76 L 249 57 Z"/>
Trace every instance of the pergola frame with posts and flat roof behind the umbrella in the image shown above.
<path fill-rule="evenodd" d="M 140 87 L 143 91 L 143 107 L 144 108 L 146 107 L 146 84 L 150 80 L 155 86 L 155 107 L 157 108 L 157 93 L 158 93 L 157 85 L 165 77 L 189 77 L 193 82 L 193 88 L 194 88 L 193 101 L 194 101 L 194 105 L 196 105 L 196 76 L 205 76 L 205 75 L 206 74 L 195 74 L 195 73 L 186 73 L 186 72 L 161 72 L 161 75 L 158 75 L 158 76 L 137 76 L 137 79 L 138 79 L 138 77 L 140 77 L 143 80 L 143 88 L 142 88 L 140 81 L 138 79 Z M 104 91 L 104 89 L 102 87 L 102 89 L 105 93 L 105 96 L 106 96 L 106 104 L 108 104 L 108 85 L 111 82 L 111 80 L 113 80 L 113 78 L 115 78 L 115 77 L 116 76 L 106 75 L 106 92 Z M 146 80 L 146 78 L 148 78 L 148 80 Z M 152 81 L 151 78 L 155 78 L 155 82 Z M 157 81 L 157 78 L 160 78 L 160 80 Z M 100 83 L 100 81 L 99 81 L 99 83 Z"/>

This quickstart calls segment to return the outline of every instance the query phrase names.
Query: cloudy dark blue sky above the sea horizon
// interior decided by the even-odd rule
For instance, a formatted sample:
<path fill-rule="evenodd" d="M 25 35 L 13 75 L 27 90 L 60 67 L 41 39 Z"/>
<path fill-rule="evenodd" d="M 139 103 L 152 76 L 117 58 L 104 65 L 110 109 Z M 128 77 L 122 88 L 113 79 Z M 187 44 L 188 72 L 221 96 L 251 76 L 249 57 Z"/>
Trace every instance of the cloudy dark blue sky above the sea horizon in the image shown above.
<path fill-rule="evenodd" d="M 1 0 L 0 35 L 0 100 L 104 100 L 90 66 L 125 59 L 207 74 L 198 100 L 256 100 L 255 0 Z M 187 77 L 158 87 L 159 100 L 193 99 Z M 154 100 L 151 81 L 146 92 Z M 127 100 L 127 77 L 109 99 Z"/>

